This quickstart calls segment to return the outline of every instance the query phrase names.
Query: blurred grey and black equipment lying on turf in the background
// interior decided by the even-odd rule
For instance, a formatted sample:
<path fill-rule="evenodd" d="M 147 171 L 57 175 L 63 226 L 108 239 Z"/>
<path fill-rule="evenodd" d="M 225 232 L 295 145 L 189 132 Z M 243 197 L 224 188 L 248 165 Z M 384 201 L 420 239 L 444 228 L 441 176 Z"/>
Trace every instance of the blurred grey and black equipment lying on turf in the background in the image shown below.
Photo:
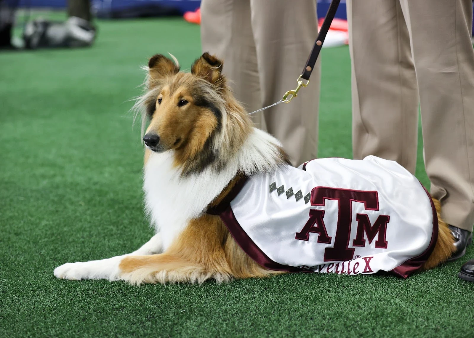
<path fill-rule="evenodd" d="M 87 20 L 70 17 L 64 22 L 43 19 L 29 21 L 23 32 L 25 46 L 41 47 L 87 47 L 96 36 L 96 28 Z"/>

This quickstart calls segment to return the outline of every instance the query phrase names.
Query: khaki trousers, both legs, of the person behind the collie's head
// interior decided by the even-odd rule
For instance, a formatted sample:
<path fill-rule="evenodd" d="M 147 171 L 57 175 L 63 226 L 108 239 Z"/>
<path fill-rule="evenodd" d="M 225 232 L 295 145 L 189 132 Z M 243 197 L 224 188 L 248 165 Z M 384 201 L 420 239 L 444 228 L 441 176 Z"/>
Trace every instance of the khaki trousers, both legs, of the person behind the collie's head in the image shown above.
<path fill-rule="evenodd" d="M 203 0 L 201 18 L 203 51 L 224 59 L 236 97 L 249 111 L 296 87 L 318 34 L 313 0 L 291 6 L 284 0 Z M 297 99 L 254 119 L 282 141 L 293 164 L 317 156 L 320 64 L 315 68 Z"/>

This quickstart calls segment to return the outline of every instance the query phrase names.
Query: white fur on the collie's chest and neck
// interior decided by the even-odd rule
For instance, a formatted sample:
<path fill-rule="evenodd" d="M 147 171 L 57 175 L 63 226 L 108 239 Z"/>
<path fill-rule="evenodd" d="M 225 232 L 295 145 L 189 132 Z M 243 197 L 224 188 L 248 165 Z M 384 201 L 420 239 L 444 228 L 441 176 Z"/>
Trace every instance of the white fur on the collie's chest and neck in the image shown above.
<path fill-rule="evenodd" d="M 143 189 L 146 211 L 162 235 L 164 250 L 191 219 L 206 212 L 238 172 L 251 175 L 278 165 L 279 146 L 274 137 L 254 128 L 224 169 L 216 172 L 208 167 L 188 177 L 181 177 L 180 170 L 173 167 L 172 152 L 151 154 L 145 166 Z"/>

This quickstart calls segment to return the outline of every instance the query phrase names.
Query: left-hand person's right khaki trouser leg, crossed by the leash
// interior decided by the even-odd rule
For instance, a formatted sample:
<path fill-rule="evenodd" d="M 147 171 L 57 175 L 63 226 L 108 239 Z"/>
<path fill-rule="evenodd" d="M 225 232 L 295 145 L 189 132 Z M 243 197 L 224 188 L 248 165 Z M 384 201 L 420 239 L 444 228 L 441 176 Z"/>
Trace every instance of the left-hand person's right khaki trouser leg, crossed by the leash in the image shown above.
<path fill-rule="evenodd" d="M 264 106 L 296 88 L 311 48 L 318 36 L 316 1 L 251 0 L 252 28 Z M 318 155 L 320 59 L 310 85 L 291 103 L 264 111 L 268 132 L 283 143 L 292 163 Z"/>

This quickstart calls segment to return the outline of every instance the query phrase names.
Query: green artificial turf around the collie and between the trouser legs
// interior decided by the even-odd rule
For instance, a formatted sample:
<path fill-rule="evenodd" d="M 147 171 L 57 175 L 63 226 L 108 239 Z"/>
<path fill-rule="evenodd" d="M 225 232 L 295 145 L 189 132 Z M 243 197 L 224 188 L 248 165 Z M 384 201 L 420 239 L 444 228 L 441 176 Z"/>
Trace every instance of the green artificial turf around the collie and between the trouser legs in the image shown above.
<path fill-rule="evenodd" d="M 0 53 L 0 337 L 474 336 L 474 283 L 457 278 L 472 247 L 408 280 L 292 274 L 137 287 L 56 279 L 58 265 L 128 253 L 152 235 L 128 100 L 144 78 L 139 65 L 166 52 L 189 68 L 199 27 L 101 21 L 88 49 Z M 319 155 L 351 157 L 348 49 L 321 57 Z"/>

